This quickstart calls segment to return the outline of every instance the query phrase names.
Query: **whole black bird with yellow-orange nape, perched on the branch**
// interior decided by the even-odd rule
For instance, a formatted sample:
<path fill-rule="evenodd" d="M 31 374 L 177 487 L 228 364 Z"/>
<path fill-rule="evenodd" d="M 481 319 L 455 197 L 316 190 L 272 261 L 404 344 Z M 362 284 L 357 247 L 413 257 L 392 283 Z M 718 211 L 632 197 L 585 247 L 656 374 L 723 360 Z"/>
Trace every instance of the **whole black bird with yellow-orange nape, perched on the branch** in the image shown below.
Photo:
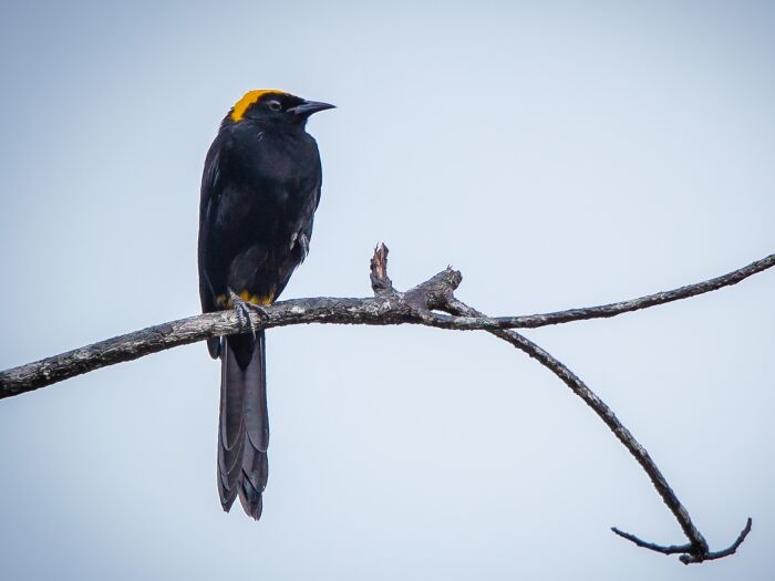
<path fill-rule="evenodd" d="M 277 300 L 304 260 L 320 201 L 318 144 L 310 115 L 334 105 L 286 91 L 248 91 L 228 111 L 205 157 L 197 260 L 205 313 L 249 310 Z M 264 330 L 214 338 L 220 359 L 217 480 L 229 511 L 239 497 L 258 520 L 267 485 L 266 336 Z"/>

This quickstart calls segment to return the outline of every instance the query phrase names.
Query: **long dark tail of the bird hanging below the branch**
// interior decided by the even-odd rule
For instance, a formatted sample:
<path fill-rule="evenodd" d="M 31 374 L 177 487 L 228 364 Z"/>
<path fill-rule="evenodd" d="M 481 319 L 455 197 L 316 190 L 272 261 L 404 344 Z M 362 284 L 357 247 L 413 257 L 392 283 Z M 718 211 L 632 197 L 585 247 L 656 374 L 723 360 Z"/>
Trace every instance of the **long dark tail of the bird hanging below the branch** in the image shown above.
<path fill-rule="evenodd" d="M 266 339 L 264 331 L 223 340 L 218 491 L 228 512 L 239 496 L 245 512 L 258 520 L 267 486 L 269 417 L 267 414 Z"/>

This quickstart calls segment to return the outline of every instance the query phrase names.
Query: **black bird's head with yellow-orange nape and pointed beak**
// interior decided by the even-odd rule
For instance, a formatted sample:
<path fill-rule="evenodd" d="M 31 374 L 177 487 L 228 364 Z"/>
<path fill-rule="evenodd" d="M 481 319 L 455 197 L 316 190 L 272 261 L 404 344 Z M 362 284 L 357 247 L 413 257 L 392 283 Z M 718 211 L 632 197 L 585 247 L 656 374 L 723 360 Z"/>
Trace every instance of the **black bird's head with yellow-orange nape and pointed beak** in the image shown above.
<path fill-rule="evenodd" d="M 277 89 L 257 89 L 245 93 L 224 121 L 303 126 L 313 113 L 333 107 L 334 105 L 329 103 L 307 101 Z"/>

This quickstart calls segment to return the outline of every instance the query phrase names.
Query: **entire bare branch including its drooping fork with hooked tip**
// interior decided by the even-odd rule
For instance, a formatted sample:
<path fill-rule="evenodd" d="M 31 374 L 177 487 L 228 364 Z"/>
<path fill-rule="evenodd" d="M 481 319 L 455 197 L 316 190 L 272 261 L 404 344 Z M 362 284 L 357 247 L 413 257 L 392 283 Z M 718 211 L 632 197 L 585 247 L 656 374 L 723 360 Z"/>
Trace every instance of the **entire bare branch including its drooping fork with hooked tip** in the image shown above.
<path fill-rule="evenodd" d="M 689 564 L 733 554 L 751 531 L 751 518 L 732 546 L 722 551 L 710 551 L 705 538 L 692 522 L 689 512 L 649 453 L 621 424 L 611 408 L 560 361 L 510 329 L 537 328 L 586 319 L 616 317 L 736 284 L 773 266 L 775 266 L 775 255 L 769 255 L 727 274 L 640 299 L 552 313 L 489 318 L 455 298 L 454 292 L 462 281 L 462 276 L 452 268 L 443 270 L 406 292 L 396 291 L 388 277 L 388 248 L 380 245 L 371 259 L 373 298 L 313 298 L 282 301 L 261 308 L 260 312 L 251 313 L 250 319 L 257 329 L 309 323 L 421 324 L 458 331 L 482 330 L 507 341 L 557 375 L 613 432 L 647 473 L 658 494 L 681 526 L 689 543 L 664 547 L 643 541 L 634 535 L 622 532 L 617 528 L 612 529 L 613 532 L 639 547 L 664 554 L 681 554 L 681 561 Z M 135 360 L 178 345 L 215 336 L 244 333 L 249 330 L 248 321 L 240 321 L 234 310 L 200 314 L 149 326 L 142 331 L 2 371 L 0 372 L 0 398 L 31 392 L 106 365 Z"/>

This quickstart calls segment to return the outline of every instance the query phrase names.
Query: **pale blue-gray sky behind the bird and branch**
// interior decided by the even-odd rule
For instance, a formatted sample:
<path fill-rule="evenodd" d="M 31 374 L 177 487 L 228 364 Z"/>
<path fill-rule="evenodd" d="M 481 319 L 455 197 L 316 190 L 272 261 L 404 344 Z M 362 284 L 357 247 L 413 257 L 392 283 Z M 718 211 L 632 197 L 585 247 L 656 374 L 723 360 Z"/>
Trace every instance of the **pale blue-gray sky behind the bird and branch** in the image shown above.
<path fill-rule="evenodd" d="M 198 311 L 202 164 L 246 91 L 335 103 L 311 253 L 285 297 L 412 286 L 526 314 L 775 250 L 766 2 L 106 2 L 0 8 L 0 366 Z M 728 560 L 684 568 L 648 478 L 505 343 L 268 334 L 265 513 L 221 512 L 204 344 L 0 402 L 0 577 L 765 579 L 775 276 L 529 333 L 607 401 Z"/>

